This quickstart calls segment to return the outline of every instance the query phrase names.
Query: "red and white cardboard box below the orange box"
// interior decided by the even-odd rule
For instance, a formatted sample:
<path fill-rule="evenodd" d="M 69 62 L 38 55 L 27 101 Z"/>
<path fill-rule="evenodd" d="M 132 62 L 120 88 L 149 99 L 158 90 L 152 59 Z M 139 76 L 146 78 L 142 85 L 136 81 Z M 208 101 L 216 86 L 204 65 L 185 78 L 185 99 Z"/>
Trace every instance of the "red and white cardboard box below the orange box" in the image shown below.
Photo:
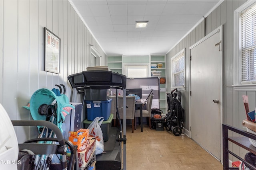
<path fill-rule="evenodd" d="M 78 164 L 79 168 L 83 170 L 88 170 L 91 164 L 96 160 L 96 140 L 89 139 L 82 145 L 82 147 L 78 148 Z"/>

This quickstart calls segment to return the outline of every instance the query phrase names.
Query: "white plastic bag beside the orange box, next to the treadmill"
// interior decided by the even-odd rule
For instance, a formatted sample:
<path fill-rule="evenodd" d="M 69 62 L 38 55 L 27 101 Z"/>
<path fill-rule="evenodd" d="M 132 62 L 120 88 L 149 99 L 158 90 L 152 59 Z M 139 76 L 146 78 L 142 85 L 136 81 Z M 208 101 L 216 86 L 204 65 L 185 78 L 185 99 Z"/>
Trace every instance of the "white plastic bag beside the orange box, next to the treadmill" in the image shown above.
<path fill-rule="evenodd" d="M 104 150 L 103 133 L 100 128 L 103 121 L 104 117 L 96 117 L 87 128 L 89 129 L 89 137 L 95 137 L 96 139 L 96 154 L 101 154 Z"/>

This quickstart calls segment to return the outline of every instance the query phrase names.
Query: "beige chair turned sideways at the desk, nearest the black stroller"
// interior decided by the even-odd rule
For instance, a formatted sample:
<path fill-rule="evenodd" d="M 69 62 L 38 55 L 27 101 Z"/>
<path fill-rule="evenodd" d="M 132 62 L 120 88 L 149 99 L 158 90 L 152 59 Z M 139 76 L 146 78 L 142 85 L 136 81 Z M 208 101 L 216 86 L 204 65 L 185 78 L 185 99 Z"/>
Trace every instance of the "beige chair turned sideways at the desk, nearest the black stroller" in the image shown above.
<path fill-rule="evenodd" d="M 150 96 L 148 97 L 146 109 L 142 109 L 142 117 L 148 117 L 148 123 L 149 123 L 150 129 L 151 129 L 151 106 L 152 106 L 153 97 L 154 95 L 150 94 Z M 135 129 L 136 129 L 136 119 L 137 119 L 136 117 L 140 117 L 139 109 L 135 110 Z M 142 123 L 142 120 L 140 120 L 140 123 Z"/>

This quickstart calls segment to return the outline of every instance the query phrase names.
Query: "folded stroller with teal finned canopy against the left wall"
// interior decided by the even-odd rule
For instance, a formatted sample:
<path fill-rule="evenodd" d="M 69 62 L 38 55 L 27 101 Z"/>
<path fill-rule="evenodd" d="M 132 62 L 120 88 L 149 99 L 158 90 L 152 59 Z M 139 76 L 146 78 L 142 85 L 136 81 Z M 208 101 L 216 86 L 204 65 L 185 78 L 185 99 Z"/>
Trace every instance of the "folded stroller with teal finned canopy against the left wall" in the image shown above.
<path fill-rule="evenodd" d="M 65 140 L 62 133 L 62 124 L 71 109 L 74 109 L 65 95 L 66 88 L 53 88 L 48 90 L 41 88 L 34 92 L 28 106 L 33 121 L 12 121 L 14 126 L 37 126 L 38 138 L 30 139 L 19 144 L 19 150 L 30 150 L 32 156 L 24 164 L 18 166 L 18 170 L 78 170 L 77 146 Z M 70 149 L 69 156 L 67 153 Z M 21 160 L 20 160 L 21 161 Z M 25 167 L 25 168 L 24 168 Z"/>

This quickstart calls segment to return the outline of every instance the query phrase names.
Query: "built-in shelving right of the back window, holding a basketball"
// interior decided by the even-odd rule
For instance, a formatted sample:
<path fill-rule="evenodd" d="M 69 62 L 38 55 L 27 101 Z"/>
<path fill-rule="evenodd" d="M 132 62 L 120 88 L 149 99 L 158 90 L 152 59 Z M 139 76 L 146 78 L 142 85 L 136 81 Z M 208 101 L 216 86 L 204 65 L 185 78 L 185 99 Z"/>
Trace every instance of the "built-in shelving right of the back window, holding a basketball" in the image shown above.
<path fill-rule="evenodd" d="M 152 68 L 152 64 L 157 65 L 156 68 Z M 162 68 L 159 68 L 158 66 L 162 64 Z M 161 72 L 160 75 L 156 75 L 156 77 L 159 77 L 159 80 L 161 78 L 165 79 L 165 83 L 160 83 L 160 109 L 167 113 L 167 100 L 166 100 L 166 55 L 150 55 L 150 73 L 154 71 Z M 154 77 L 154 75 L 151 74 L 151 77 Z M 161 81 L 160 81 L 161 82 Z"/>

